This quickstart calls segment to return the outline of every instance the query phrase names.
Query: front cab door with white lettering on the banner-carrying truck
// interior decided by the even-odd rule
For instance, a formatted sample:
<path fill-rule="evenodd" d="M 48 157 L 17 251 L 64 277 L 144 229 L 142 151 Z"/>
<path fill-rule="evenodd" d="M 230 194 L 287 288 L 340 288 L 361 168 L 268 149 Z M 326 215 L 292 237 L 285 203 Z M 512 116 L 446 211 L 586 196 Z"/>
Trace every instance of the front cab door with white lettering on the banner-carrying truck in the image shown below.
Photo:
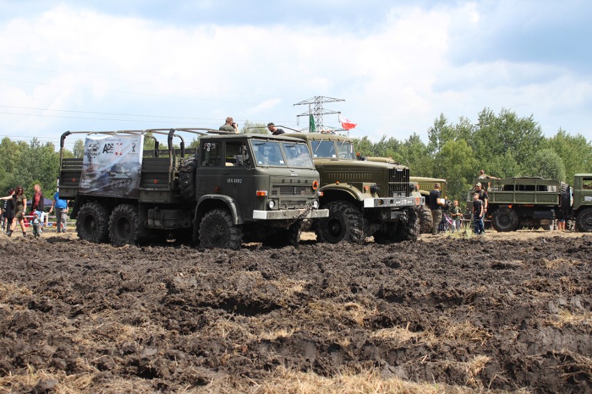
<path fill-rule="evenodd" d="M 246 139 L 225 142 L 220 193 L 238 201 L 245 219 L 252 219 L 256 198 L 253 190 L 254 171 L 249 157 Z"/>

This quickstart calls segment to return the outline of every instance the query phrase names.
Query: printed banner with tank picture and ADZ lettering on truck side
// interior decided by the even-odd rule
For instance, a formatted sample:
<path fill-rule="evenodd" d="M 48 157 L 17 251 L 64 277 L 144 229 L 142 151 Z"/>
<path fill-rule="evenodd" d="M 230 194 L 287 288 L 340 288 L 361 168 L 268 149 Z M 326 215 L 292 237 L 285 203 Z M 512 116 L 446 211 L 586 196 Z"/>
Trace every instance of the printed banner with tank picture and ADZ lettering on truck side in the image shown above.
<path fill-rule="evenodd" d="M 86 137 L 80 194 L 138 198 L 143 135 Z"/>

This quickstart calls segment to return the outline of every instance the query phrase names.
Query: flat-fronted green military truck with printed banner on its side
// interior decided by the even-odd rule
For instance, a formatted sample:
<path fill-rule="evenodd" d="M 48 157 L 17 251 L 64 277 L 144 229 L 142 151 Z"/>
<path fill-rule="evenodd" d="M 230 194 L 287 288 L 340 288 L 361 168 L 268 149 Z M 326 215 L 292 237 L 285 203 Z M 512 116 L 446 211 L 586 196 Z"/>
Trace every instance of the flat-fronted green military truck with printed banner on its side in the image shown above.
<path fill-rule="evenodd" d="M 300 139 L 197 128 L 80 132 L 83 158 L 63 157 L 60 198 L 74 200 L 81 239 L 113 246 L 170 237 L 204 248 L 238 249 L 242 241 L 297 246 L 318 209 L 319 173 Z M 199 136 L 187 155 L 183 133 Z M 159 150 L 156 135 L 167 136 Z M 143 151 L 144 137 L 155 139 Z M 173 144 L 179 139 L 179 148 Z"/>

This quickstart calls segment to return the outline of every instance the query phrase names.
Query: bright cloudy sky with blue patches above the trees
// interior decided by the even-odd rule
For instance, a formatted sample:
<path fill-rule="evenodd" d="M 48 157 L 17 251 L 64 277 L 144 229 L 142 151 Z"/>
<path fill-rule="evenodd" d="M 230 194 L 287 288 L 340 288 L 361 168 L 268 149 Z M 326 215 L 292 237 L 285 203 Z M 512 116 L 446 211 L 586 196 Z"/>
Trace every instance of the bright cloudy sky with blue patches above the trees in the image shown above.
<path fill-rule="evenodd" d="M 293 104 L 328 96 L 352 137 L 426 141 L 441 113 L 507 108 L 592 140 L 591 16 L 588 0 L 0 0 L 0 136 L 304 128 Z"/>

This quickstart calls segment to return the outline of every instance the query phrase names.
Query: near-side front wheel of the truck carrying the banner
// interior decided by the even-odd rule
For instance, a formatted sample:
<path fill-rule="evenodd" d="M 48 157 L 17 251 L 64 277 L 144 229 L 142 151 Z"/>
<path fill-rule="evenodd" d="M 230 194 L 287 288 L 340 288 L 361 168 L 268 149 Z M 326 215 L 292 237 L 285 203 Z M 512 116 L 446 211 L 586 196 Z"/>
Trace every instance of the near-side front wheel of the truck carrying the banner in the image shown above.
<path fill-rule="evenodd" d="M 199 241 L 206 249 L 238 250 L 242 243 L 242 230 L 232 222 L 232 216 L 227 210 L 212 209 L 199 224 Z"/>

